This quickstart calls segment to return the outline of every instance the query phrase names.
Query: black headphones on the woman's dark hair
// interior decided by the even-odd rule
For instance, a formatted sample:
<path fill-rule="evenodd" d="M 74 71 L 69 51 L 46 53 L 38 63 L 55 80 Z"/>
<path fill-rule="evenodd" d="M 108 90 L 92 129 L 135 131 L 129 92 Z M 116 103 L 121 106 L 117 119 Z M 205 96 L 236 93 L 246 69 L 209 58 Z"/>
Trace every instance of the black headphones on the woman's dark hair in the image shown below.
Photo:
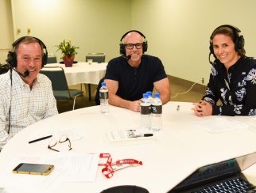
<path fill-rule="evenodd" d="M 235 51 L 240 51 L 242 50 L 242 48 L 244 47 L 244 38 L 242 35 L 239 35 L 239 32 L 241 32 L 241 30 L 239 28 L 236 28 L 235 26 L 233 25 L 220 25 L 218 28 L 215 28 L 215 30 L 211 33 L 211 36 L 210 36 L 210 55 L 213 54 L 214 55 L 214 51 L 213 51 L 213 44 L 212 44 L 212 35 L 213 33 L 221 28 L 221 27 L 227 27 L 227 28 L 231 28 L 232 31 L 234 32 L 236 38 L 235 38 Z"/>

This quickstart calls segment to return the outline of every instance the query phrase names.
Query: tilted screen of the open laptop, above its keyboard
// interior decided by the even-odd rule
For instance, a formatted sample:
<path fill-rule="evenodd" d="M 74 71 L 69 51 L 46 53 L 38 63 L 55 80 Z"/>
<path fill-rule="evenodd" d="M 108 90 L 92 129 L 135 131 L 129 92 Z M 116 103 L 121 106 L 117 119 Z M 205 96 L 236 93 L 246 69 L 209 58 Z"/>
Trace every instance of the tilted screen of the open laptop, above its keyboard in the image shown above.
<path fill-rule="evenodd" d="M 246 154 L 241 157 L 235 157 L 227 161 L 205 165 L 196 169 L 190 176 L 183 180 L 180 184 L 176 185 L 171 191 L 181 191 L 190 187 L 196 187 L 201 184 L 220 180 L 227 176 L 233 176 L 244 169 L 254 165 L 256 162 L 256 152 Z"/>

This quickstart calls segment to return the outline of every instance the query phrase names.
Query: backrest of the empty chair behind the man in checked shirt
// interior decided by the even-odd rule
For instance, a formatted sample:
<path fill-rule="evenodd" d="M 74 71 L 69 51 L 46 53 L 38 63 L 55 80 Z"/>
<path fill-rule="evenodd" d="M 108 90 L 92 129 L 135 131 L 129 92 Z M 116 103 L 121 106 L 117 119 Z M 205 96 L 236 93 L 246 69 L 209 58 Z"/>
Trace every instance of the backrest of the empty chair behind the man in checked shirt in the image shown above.
<path fill-rule="evenodd" d="M 64 70 L 60 66 L 45 66 L 41 71 L 52 81 L 52 90 L 69 90 Z"/>

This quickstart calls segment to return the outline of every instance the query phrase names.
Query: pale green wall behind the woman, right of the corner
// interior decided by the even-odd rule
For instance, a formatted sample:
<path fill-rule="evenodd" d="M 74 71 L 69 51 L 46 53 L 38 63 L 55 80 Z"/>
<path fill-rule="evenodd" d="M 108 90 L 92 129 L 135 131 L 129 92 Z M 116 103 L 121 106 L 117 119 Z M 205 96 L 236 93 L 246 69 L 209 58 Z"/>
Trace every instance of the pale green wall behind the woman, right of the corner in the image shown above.
<path fill-rule="evenodd" d="M 256 56 L 254 0 L 133 0 L 132 26 L 149 42 L 147 54 L 158 56 L 167 74 L 208 83 L 211 32 L 235 25 L 246 40 L 246 55 Z"/>

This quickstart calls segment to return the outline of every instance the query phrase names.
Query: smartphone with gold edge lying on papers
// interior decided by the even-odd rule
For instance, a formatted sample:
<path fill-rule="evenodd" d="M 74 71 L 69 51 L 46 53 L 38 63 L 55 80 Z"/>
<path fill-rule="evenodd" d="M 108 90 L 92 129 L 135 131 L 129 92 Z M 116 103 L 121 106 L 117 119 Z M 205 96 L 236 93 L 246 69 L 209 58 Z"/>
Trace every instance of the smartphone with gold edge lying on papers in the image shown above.
<path fill-rule="evenodd" d="M 21 163 L 17 165 L 16 168 L 14 168 L 14 173 L 22 173 L 22 174 L 33 174 L 33 175 L 43 175 L 47 176 L 50 172 L 52 172 L 52 169 L 54 168 L 54 165 L 39 165 L 39 164 L 27 164 L 27 163 Z"/>

